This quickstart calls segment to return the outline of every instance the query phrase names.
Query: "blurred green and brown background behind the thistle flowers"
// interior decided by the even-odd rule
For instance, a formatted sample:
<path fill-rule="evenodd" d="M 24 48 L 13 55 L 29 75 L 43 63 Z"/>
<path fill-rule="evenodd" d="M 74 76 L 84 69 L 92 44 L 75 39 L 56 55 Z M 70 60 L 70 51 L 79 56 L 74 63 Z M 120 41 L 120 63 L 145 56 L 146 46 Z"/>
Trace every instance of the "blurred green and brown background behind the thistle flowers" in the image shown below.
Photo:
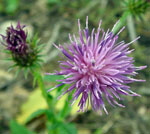
<path fill-rule="evenodd" d="M 138 1 L 138 0 L 137 0 Z M 146 1 L 149 3 L 149 1 Z M 131 7 L 132 8 L 132 7 Z M 140 7 L 139 7 L 140 9 Z M 53 47 L 52 43 L 63 44 L 69 42 L 68 34 L 78 32 L 77 19 L 80 18 L 85 27 L 86 16 L 89 16 L 89 27 L 97 28 L 99 20 L 103 20 L 102 27 L 112 28 L 127 10 L 122 0 L 0 0 L 0 33 L 4 34 L 10 24 L 20 21 L 27 25 L 28 34 L 38 33 L 41 42 L 45 44 L 43 50 L 45 72 L 53 72 L 58 67 L 58 60 L 62 55 Z M 78 113 L 77 107 L 72 108 L 66 121 L 75 124 L 70 126 L 70 134 L 149 134 L 150 133 L 150 12 L 143 8 L 142 14 L 134 14 L 124 22 L 126 29 L 120 34 L 119 41 L 130 42 L 137 36 L 141 38 L 130 47 L 134 48 L 132 56 L 135 65 L 147 65 L 136 78 L 145 79 L 144 83 L 130 84 L 131 89 L 141 97 L 124 97 L 125 108 L 113 108 L 109 105 L 109 115 L 102 116 L 92 112 Z M 3 46 L 0 45 L 0 50 Z M 23 74 L 15 77 L 15 71 L 8 72 L 11 62 L 4 59 L 7 55 L 0 54 L 0 134 L 9 134 L 11 119 L 16 119 L 29 130 L 37 134 L 46 133 L 46 118 L 42 113 L 29 122 L 25 122 L 36 109 L 46 105 L 37 88 L 32 86 L 32 76 L 25 79 Z M 45 82 L 46 87 L 55 82 Z M 55 94 L 55 93 L 52 93 Z M 57 103 L 58 111 L 65 99 Z M 74 131 L 74 132 L 73 132 Z M 60 132 L 60 134 L 66 134 Z"/>

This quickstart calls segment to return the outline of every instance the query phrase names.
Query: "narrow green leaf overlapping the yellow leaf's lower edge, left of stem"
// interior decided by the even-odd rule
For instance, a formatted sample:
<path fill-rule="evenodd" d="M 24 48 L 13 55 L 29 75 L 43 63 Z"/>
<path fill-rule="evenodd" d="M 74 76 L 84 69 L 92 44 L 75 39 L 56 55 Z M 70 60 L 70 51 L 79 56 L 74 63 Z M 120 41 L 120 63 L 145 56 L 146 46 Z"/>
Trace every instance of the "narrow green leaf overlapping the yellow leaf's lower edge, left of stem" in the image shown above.
<path fill-rule="evenodd" d="M 46 109 L 38 109 L 37 111 L 33 112 L 26 120 L 26 122 L 29 122 L 31 121 L 32 119 L 42 115 L 42 114 L 45 114 L 46 113 Z"/>

